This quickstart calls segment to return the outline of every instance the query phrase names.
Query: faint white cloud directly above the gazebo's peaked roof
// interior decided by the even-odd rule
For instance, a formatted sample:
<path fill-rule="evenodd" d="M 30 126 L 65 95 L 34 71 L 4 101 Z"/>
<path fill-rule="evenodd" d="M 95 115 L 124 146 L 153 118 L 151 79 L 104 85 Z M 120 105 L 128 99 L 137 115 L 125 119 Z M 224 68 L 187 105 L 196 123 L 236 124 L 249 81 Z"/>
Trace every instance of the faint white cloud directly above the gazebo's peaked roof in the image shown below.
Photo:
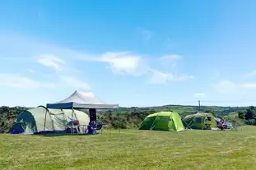
<path fill-rule="evenodd" d="M 79 90 L 90 90 L 90 85 L 76 77 L 59 76 L 59 80 L 61 82 L 60 85 L 67 85 L 72 88 L 78 88 Z"/>

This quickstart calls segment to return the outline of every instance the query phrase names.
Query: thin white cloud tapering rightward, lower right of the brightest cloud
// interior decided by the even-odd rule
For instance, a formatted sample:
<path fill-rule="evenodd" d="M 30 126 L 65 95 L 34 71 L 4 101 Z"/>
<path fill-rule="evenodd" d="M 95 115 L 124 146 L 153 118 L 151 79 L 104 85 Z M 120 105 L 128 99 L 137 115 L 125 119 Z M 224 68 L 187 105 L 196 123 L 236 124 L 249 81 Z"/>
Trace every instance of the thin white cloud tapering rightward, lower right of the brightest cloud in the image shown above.
<path fill-rule="evenodd" d="M 161 71 L 151 70 L 151 83 L 152 84 L 165 84 L 168 81 L 182 81 L 182 80 L 188 80 L 193 79 L 193 76 L 177 76 L 170 73 L 164 73 Z"/>

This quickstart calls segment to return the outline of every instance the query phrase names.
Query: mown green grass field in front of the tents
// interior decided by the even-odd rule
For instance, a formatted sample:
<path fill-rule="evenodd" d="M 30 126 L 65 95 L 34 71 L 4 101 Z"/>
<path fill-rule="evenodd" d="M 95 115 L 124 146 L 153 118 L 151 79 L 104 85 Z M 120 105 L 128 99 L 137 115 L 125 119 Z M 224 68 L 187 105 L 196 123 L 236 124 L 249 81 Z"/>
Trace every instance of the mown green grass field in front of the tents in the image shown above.
<path fill-rule="evenodd" d="M 240 131 L 0 135 L 0 169 L 255 169 L 256 126 Z"/>

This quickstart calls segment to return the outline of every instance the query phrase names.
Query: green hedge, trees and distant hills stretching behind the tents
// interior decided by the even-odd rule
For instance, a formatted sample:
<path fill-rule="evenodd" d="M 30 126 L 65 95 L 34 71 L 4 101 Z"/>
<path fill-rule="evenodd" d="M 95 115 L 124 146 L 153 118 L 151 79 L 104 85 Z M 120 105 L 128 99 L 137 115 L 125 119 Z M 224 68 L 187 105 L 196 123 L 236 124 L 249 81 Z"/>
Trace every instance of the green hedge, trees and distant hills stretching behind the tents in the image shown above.
<path fill-rule="evenodd" d="M 9 128 L 14 123 L 16 116 L 21 110 L 26 110 L 28 108 L 21 108 L 21 107 L 13 107 L 9 108 L 6 106 L 2 106 L 0 108 L 0 127 L 2 127 L 5 131 L 8 131 Z M 214 116 L 227 116 L 230 112 L 240 112 L 244 111 L 246 108 L 229 108 L 229 107 L 217 107 L 217 106 L 201 106 L 200 110 L 202 112 L 209 112 L 213 113 Z M 255 108 L 248 108 L 246 109 L 249 113 L 248 117 L 255 117 Z M 119 110 L 97 110 L 98 114 L 98 122 L 103 124 L 107 124 L 114 128 L 121 126 L 122 128 L 135 128 L 139 126 L 139 124 L 143 121 L 147 115 L 151 113 L 157 113 L 161 111 L 174 111 L 179 113 L 181 117 L 185 117 L 189 114 L 198 113 L 197 106 L 182 106 L 182 105 L 165 105 L 165 106 L 158 106 L 158 107 L 149 107 L 149 108 L 119 108 Z M 245 112 L 245 111 L 244 111 Z M 118 115 L 120 114 L 120 122 L 118 121 Z M 241 115 L 240 115 L 241 116 Z M 245 119 L 241 116 L 241 119 Z"/>

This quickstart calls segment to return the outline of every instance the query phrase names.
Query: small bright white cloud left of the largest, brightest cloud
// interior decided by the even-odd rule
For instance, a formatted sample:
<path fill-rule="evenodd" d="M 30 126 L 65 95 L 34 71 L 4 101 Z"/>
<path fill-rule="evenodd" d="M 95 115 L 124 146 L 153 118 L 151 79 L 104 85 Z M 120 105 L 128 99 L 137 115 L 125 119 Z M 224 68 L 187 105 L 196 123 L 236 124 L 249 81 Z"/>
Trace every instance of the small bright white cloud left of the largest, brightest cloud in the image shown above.
<path fill-rule="evenodd" d="M 55 57 L 54 55 L 40 55 L 37 62 L 44 65 L 45 67 L 54 68 L 56 71 L 62 71 L 66 62 L 62 59 Z"/>

